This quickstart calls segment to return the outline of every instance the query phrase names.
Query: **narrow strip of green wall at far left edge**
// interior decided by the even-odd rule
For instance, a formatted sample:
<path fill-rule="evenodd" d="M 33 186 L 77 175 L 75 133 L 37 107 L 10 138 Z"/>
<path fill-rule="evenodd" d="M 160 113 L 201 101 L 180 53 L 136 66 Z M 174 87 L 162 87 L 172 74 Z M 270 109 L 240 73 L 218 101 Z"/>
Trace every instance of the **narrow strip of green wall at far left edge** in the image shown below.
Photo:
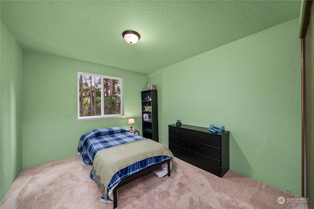
<path fill-rule="evenodd" d="M 22 49 L 0 22 L 0 199 L 22 169 Z"/>

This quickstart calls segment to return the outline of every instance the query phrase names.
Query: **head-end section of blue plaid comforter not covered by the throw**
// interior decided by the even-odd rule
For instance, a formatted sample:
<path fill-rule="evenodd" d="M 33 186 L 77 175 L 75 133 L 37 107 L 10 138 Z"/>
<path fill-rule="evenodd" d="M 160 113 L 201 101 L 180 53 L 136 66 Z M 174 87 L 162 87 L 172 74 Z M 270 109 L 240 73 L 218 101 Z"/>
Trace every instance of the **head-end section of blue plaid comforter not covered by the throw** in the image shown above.
<path fill-rule="evenodd" d="M 82 156 L 82 163 L 92 165 L 99 150 L 142 139 L 145 138 L 119 127 L 95 129 L 79 139 L 78 155 Z"/>

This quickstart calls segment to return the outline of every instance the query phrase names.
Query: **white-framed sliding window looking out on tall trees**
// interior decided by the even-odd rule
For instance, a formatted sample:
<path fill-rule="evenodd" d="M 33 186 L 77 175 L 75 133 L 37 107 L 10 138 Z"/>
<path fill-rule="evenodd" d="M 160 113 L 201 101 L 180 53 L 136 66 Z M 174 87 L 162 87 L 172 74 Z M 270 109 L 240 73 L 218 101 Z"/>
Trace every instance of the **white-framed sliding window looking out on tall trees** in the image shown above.
<path fill-rule="evenodd" d="M 78 120 L 123 117 L 122 78 L 78 72 Z"/>

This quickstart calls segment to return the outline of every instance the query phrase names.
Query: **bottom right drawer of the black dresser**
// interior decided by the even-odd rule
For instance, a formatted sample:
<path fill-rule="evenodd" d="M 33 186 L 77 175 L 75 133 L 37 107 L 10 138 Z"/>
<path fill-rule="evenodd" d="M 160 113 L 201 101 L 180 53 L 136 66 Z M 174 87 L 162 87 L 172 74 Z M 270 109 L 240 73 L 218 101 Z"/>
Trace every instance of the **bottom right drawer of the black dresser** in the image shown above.
<path fill-rule="evenodd" d="M 216 170 L 218 172 L 221 171 L 221 169 L 220 169 L 221 161 L 210 158 L 208 156 L 190 151 L 190 160 L 193 161 L 194 163 L 209 167 L 209 168 Z"/>

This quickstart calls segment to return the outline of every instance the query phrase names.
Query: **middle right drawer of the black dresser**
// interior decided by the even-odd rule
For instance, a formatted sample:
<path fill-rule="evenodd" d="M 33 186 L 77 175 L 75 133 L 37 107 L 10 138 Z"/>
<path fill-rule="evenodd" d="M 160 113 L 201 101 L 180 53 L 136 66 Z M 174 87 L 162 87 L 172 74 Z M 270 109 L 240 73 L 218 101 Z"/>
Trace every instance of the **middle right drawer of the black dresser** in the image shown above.
<path fill-rule="evenodd" d="M 190 141 L 190 150 L 221 160 L 221 149 L 207 144 Z"/>

